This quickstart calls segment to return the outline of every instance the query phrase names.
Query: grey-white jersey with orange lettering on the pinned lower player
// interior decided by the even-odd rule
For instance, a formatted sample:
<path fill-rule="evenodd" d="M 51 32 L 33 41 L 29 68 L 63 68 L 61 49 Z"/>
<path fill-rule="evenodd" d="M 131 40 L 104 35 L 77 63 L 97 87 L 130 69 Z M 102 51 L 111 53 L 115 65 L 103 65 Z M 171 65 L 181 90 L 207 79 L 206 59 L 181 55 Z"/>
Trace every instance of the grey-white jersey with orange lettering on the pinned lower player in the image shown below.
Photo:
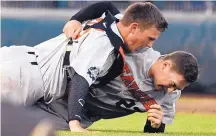
<path fill-rule="evenodd" d="M 159 104 L 164 110 L 163 123 L 171 123 L 175 115 L 175 101 L 181 93 L 156 91 L 153 80 L 148 77 L 149 69 L 161 56 L 160 53 L 144 48 L 139 53 L 125 55 L 124 72 L 106 86 L 92 87 L 90 95 L 103 103 L 136 112 L 145 112 L 150 105 Z"/>

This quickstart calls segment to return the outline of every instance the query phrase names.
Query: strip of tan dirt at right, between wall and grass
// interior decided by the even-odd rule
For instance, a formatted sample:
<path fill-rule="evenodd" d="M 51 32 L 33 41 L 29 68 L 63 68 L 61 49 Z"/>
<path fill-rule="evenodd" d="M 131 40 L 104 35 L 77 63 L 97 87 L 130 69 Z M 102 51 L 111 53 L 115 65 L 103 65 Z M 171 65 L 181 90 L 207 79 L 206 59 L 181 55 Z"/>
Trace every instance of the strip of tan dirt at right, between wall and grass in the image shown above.
<path fill-rule="evenodd" d="M 202 94 L 182 95 L 176 103 L 176 112 L 216 113 L 216 96 Z"/>

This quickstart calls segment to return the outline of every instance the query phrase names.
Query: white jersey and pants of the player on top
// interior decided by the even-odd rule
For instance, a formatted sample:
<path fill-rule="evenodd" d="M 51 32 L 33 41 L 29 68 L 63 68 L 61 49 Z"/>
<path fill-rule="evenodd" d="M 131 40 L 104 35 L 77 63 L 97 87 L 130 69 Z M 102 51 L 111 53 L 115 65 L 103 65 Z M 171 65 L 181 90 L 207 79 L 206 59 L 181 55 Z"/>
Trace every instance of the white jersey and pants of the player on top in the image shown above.
<path fill-rule="evenodd" d="M 116 27 L 116 23 L 112 26 Z M 97 77 L 108 72 L 107 70 L 114 62 L 114 47 L 104 31 L 90 28 L 88 32 L 82 33 L 82 36 L 74 40 L 71 47 L 70 66 L 91 86 Z M 46 103 L 60 98 L 65 93 L 67 85 L 63 61 L 67 47 L 70 47 L 67 46 L 68 41 L 66 36 L 61 34 L 34 47 L 16 46 L 1 49 L 3 58 L 1 62 L 5 73 L 2 78 L 4 91 L 1 94 L 4 98 L 12 97 L 13 103 L 19 105 L 32 105 L 42 97 Z M 33 52 L 33 54 L 26 52 Z M 32 57 L 34 60 L 31 59 Z M 8 61 L 8 59 L 11 63 L 6 63 L 5 60 Z M 20 69 L 26 70 L 22 72 L 14 66 L 20 66 Z M 14 68 L 16 70 L 13 73 L 5 70 Z"/>

